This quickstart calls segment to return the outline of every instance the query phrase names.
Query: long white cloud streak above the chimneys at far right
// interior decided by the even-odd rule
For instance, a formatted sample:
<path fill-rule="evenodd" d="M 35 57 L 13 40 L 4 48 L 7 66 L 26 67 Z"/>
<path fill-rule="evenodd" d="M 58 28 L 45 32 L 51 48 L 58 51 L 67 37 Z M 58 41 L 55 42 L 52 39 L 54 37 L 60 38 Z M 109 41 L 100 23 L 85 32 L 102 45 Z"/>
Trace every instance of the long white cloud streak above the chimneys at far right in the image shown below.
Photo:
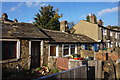
<path fill-rule="evenodd" d="M 118 7 L 107 8 L 107 9 L 103 9 L 103 10 L 99 11 L 97 13 L 97 16 L 100 17 L 100 16 L 103 16 L 104 14 L 111 13 L 111 12 L 117 12 L 117 11 L 118 11 Z"/>

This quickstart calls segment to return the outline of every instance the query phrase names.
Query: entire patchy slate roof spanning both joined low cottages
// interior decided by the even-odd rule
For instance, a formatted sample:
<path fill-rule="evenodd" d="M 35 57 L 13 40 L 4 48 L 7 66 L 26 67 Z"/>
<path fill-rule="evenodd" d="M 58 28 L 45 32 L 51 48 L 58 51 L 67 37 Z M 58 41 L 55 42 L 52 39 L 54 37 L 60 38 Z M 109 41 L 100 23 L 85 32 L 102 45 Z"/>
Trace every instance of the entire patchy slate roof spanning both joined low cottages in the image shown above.
<path fill-rule="evenodd" d="M 2 38 L 49 39 L 49 43 L 94 43 L 85 35 L 38 29 L 30 23 L 2 24 Z"/>

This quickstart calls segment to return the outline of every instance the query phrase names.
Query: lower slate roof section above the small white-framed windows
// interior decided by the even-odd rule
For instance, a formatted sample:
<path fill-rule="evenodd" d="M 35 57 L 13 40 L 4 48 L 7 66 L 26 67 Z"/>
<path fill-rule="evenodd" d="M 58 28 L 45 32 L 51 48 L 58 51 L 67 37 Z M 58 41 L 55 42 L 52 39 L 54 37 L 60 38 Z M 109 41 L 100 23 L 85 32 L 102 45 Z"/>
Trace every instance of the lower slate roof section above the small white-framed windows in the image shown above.
<path fill-rule="evenodd" d="M 93 39 L 79 34 L 66 33 L 55 30 L 41 29 L 41 31 L 51 38 L 50 43 L 94 43 Z"/>

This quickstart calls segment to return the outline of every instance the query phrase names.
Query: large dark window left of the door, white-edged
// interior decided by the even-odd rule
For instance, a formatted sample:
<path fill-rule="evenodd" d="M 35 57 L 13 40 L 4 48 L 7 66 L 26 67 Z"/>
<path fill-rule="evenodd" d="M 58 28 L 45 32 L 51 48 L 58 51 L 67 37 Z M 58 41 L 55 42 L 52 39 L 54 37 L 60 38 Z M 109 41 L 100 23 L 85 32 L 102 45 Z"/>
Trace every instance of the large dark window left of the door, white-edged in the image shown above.
<path fill-rule="evenodd" d="M 2 59 L 16 58 L 17 41 L 2 41 Z"/>

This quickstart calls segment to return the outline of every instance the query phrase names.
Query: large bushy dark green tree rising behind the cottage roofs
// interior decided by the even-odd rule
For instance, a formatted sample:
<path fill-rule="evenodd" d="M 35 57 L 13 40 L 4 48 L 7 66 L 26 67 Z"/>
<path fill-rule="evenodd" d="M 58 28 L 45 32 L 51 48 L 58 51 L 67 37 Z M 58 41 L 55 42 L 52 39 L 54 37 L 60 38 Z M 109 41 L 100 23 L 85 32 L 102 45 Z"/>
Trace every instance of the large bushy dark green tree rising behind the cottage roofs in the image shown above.
<path fill-rule="evenodd" d="M 50 5 L 41 7 L 39 13 L 35 15 L 34 24 L 39 28 L 59 30 L 59 18 L 61 18 L 62 15 L 59 16 L 57 13 L 58 9 L 53 10 L 53 8 L 54 7 Z"/>

